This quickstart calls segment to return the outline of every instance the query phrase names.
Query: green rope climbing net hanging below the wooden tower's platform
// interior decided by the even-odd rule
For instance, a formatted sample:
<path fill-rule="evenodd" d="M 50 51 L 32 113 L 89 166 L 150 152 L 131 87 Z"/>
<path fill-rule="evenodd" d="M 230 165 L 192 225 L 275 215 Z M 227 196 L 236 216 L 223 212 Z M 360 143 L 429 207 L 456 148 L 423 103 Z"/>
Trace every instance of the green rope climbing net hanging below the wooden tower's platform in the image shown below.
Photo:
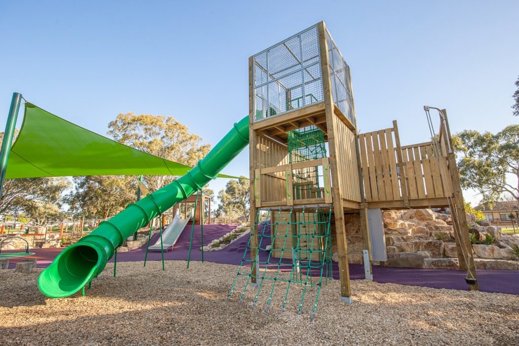
<path fill-rule="evenodd" d="M 294 297 L 289 294 L 292 288 L 300 296 L 298 314 L 303 311 L 305 297 L 311 296 L 307 307 L 313 302 L 313 321 L 322 284 L 332 280 L 331 212 L 330 205 L 258 210 L 228 299 L 238 290 L 240 302 L 248 294 L 253 297 L 253 307 L 266 300 L 268 311 L 274 298 L 279 298 L 284 311 L 289 298 Z M 257 242 L 251 242 L 256 237 Z M 249 287 L 254 287 L 255 292 L 247 292 Z"/>

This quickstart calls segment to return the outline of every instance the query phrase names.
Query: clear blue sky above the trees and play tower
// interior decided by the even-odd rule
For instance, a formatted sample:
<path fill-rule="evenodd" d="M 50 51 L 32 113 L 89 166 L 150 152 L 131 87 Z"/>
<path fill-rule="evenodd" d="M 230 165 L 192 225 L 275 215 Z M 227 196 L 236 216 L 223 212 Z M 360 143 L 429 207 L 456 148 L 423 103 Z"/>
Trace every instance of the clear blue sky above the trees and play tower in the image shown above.
<path fill-rule="evenodd" d="M 171 115 L 214 145 L 248 112 L 249 56 L 321 20 L 351 67 L 361 132 L 397 119 L 403 145 L 427 141 L 426 104 L 453 132 L 517 122 L 519 1 L 277 0 L 2 1 L 0 123 L 18 91 L 100 134 L 121 112 Z M 248 154 L 226 173 L 247 175 Z"/>

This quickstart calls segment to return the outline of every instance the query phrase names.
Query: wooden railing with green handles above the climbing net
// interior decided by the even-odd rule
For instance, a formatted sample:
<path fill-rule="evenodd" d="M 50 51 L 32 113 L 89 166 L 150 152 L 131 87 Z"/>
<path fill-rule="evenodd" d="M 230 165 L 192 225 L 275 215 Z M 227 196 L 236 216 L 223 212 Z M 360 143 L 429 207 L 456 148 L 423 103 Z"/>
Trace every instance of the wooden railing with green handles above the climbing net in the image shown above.
<path fill-rule="evenodd" d="M 316 172 L 316 174 L 309 175 L 309 172 Z M 319 175 L 317 172 L 322 174 Z M 298 174 L 307 174 L 310 180 L 306 183 L 302 182 L 301 178 L 297 177 Z M 267 185 L 268 179 L 276 179 L 278 184 L 268 184 L 269 189 L 266 189 L 267 186 L 264 187 L 263 184 Z M 256 207 L 332 203 L 329 159 L 322 158 L 256 169 L 254 200 Z"/>

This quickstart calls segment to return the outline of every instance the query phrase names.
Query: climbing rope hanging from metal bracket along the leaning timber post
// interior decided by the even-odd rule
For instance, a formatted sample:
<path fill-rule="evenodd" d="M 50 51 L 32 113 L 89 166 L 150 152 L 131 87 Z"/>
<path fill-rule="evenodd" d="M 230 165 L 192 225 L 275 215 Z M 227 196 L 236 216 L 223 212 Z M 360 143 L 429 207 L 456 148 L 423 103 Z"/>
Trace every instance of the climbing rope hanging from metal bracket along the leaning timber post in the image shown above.
<path fill-rule="evenodd" d="M 431 118 L 431 113 L 429 112 L 429 107 L 424 106 L 424 110 L 425 110 L 426 117 L 427 117 L 427 124 L 429 126 L 429 132 L 431 134 L 434 156 L 436 157 L 436 161 L 438 162 L 438 166 L 440 167 L 440 179 L 445 188 L 447 204 L 449 206 L 451 215 L 454 216 L 452 218 L 454 232 L 456 233 L 456 237 L 458 238 L 458 241 L 460 242 L 459 247 L 461 248 L 461 254 L 463 256 L 463 259 L 465 259 L 465 264 L 467 266 L 467 276 L 466 276 L 465 280 L 467 281 L 467 283 L 474 284 L 476 282 L 476 278 L 475 278 L 475 275 L 472 272 L 472 268 L 470 266 L 470 259 L 472 258 L 472 254 L 471 253 L 469 254 L 469 252 L 467 251 L 467 248 L 465 246 L 462 246 L 462 243 L 461 243 L 463 234 L 462 234 L 461 226 L 459 224 L 459 214 L 458 214 L 458 210 L 456 209 L 456 206 L 455 206 L 453 198 L 452 198 L 453 191 L 449 190 L 449 185 L 447 184 L 446 167 L 440 161 L 440 157 L 442 156 L 442 151 L 441 151 L 441 147 L 440 147 L 440 143 L 439 143 L 439 137 L 436 137 L 436 132 L 434 131 L 434 126 L 433 126 L 433 122 L 432 122 L 432 118 Z M 440 110 L 438 112 L 440 112 Z M 443 114 L 441 112 L 440 112 L 440 121 L 441 121 L 440 126 L 442 126 L 442 125 L 445 126 L 445 122 L 444 122 L 445 119 L 443 118 Z M 445 136 L 448 136 L 446 127 L 445 127 Z M 449 153 L 450 153 L 450 150 L 452 150 L 452 148 L 450 147 L 450 143 L 447 143 L 447 146 L 448 146 L 447 149 L 449 150 Z"/>

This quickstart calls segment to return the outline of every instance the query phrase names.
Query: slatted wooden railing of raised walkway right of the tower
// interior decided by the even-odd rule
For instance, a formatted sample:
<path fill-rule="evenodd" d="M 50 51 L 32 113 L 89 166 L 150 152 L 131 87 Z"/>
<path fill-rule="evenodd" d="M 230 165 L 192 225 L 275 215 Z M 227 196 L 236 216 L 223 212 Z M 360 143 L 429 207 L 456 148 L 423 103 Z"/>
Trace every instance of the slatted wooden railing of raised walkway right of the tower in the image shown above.
<path fill-rule="evenodd" d="M 440 155 L 432 142 L 400 146 L 397 122 L 393 127 L 359 134 L 366 202 L 422 200 L 443 204 L 452 196 L 444 136 Z M 443 144 L 443 145 L 442 145 Z"/>

